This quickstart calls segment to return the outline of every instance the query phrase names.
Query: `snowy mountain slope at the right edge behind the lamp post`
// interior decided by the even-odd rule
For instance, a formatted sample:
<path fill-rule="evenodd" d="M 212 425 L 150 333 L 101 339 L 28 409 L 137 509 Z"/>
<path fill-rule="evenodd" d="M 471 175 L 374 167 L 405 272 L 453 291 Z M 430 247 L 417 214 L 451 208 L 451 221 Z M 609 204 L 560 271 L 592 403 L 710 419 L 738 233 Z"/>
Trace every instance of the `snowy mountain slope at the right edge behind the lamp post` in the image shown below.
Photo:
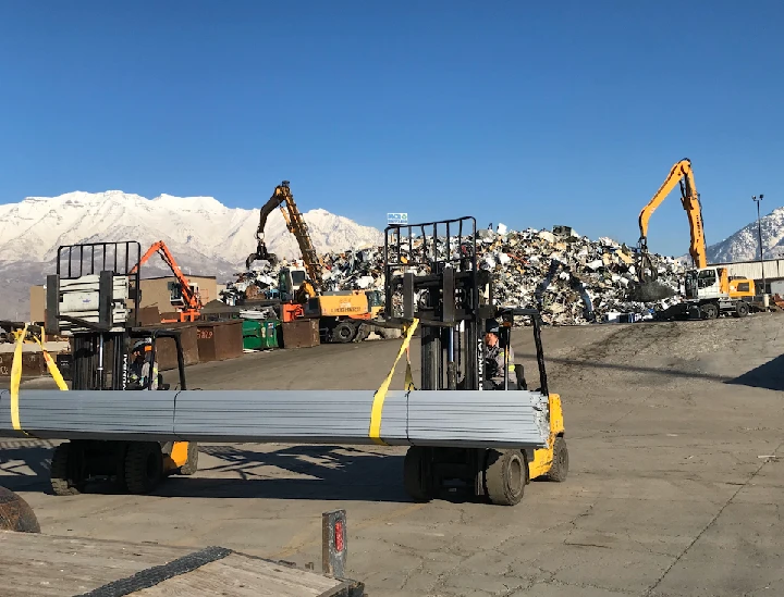
<path fill-rule="evenodd" d="M 776 208 L 764 217 L 761 217 L 760 225 L 762 227 L 764 258 L 773 259 L 784 256 L 784 208 Z M 721 242 L 708 247 L 709 263 L 751 261 L 755 259 L 759 259 L 757 220 Z"/>

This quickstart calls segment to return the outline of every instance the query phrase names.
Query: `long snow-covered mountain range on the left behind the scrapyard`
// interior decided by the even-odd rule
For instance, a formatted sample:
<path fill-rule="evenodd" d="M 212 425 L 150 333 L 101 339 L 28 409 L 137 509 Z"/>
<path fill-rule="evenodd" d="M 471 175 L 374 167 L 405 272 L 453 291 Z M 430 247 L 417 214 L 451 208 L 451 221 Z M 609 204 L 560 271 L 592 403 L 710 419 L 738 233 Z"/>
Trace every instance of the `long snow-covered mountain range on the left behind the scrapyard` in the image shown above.
<path fill-rule="evenodd" d="M 319 251 L 378 245 L 383 239 L 380 231 L 322 209 L 303 215 Z M 186 273 L 216 275 L 225 282 L 244 269 L 256 249 L 258 219 L 258 209 L 230 209 L 212 197 L 147 199 L 120 190 L 27 197 L 0 204 L 0 319 L 27 316 L 28 288 L 42 284 L 46 274 L 54 271 L 61 245 L 138 240 L 144 251 L 163 240 Z M 280 257 L 298 256 L 280 210 L 269 216 L 266 241 Z M 146 272 L 159 275 L 166 270 L 152 258 Z"/>

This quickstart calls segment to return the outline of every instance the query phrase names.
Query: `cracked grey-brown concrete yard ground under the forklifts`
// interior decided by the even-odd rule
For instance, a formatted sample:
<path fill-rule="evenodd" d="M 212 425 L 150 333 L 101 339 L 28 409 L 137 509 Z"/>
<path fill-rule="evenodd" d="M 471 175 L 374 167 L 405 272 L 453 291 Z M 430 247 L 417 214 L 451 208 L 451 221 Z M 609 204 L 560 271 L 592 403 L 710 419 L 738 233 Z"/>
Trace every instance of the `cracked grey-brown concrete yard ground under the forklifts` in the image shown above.
<path fill-rule="evenodd" d="M 50 444 L 7 441 L 0 484 L 45 533 L 222 545 L 317 569 L 321 512 L 345 508 L 347 574 L 373 597 L 784 595 L 783 327 L 757 314 L 546 329 L 571 472 L 532 483 L 514 508 L 413 503 L 392 448 L 209 445 L 199 473 L 154 496 L 57 498 Z M 529 333 L 516 334 L 530 380 Z M 188 376 L 203 388 L 375 389 L 397 347 L 253 355 Z"/>

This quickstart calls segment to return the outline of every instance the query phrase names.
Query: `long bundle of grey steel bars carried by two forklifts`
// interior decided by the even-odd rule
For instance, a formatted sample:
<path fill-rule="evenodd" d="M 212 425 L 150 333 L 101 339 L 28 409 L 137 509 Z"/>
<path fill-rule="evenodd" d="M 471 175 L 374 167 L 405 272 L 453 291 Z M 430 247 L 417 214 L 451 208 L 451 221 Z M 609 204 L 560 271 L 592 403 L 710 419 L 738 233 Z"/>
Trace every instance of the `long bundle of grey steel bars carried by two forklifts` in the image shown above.
<path fill-rule="evenodd" d="M 0 391 L 0 436 L 372 444 L 372 390 L 20 393 L 15 428 Z M 534 391 L 390 391 L 380 439 L 389 445 L 541 448 L 547 397 Z M 378 410 L 378 405 L 377 405 Z"/>

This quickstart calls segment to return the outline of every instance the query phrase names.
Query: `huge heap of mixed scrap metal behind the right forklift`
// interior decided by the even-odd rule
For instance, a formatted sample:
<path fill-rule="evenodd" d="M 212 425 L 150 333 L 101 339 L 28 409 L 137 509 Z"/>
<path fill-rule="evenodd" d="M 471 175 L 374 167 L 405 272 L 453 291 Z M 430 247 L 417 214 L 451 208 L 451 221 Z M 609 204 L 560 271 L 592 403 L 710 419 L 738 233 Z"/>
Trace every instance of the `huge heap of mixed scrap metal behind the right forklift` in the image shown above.
<path fill-rule="evenodd" d="M 458 257 L 470 246 L 467 240 L 461 242 L 453 237 L 448 248 L 445 238 L 433 244 L 431 237 L 420 236 L 401 250 L 412 253 L 407 256 L 411 261 L 426 261 L 422 254 L 441 260 L 446 251 Z M 628 247 L 610 238 L 591 240 L 567 226 L 515 232 L 500 224 L 494 231 L 478 231 L 476 246 L 478 266 L 488 270 L 494 281 L 495 302 L 538 308 L 544 323 L 579 325 L 651 319 L 654 310 L 682 300 L 685 268 L 675 259 L 652 256 L 658 268 L 659 295 L 665 296 L 652 300 L 638 293 L 635 256 Z M 406 256 L 403 257 L 405 262 Z M 383 248 L 329 253 L 323 262 L 329 290 L 384 287 Z M 225 290 L 224 300 L 242 304 L 244 300 L 274 298 L 281 265 L 285 262 L 277 266 L 265 262 L 240 274 Z"/>

